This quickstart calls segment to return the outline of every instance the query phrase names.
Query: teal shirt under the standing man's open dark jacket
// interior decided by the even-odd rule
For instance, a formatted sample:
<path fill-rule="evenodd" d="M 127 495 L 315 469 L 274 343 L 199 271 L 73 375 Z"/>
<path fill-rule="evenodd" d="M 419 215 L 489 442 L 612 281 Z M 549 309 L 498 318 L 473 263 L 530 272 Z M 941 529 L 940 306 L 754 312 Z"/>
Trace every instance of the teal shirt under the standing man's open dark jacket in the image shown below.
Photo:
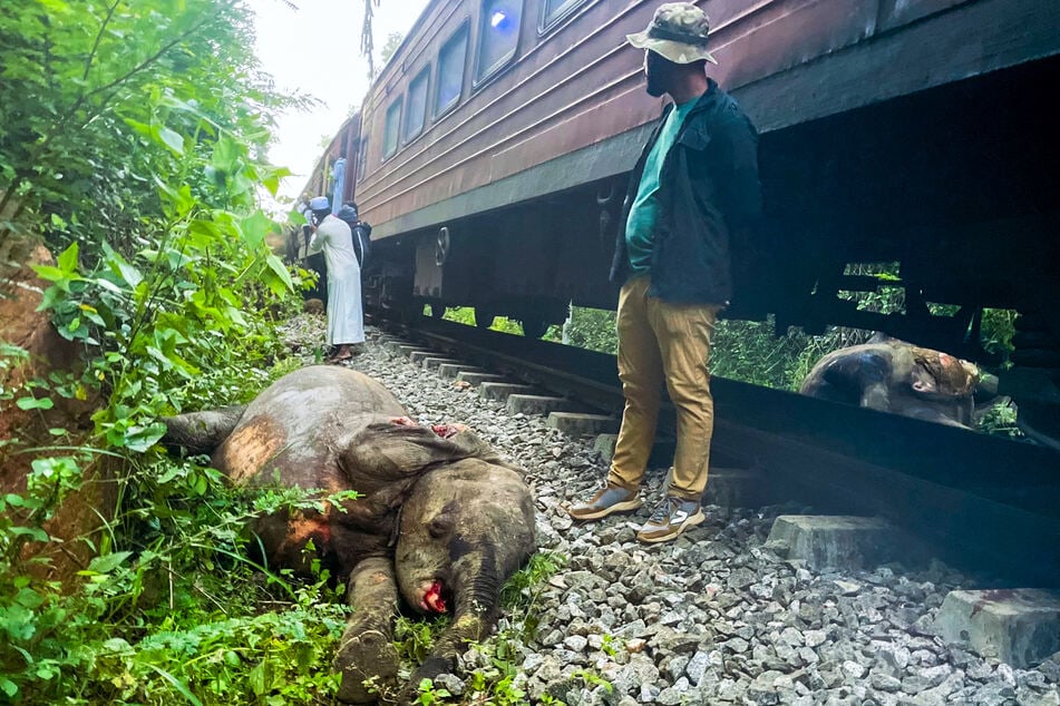
<path fill-rule="evenodd" d="M 642 275 L 651 272 L 651 251 L 655 241 L 655 222 L 659 216 L 659 175 L 667 153 L 677 140 L 684 117 L 692 111 L 696 100 L 674 106 L 659 131 L 659 139 L 648 153 L 644 173 L 641 175 L 636 198 L 630 208 L 630 218 L 625 223 L 625 248 L 630 256 L 630 274 Z"/>

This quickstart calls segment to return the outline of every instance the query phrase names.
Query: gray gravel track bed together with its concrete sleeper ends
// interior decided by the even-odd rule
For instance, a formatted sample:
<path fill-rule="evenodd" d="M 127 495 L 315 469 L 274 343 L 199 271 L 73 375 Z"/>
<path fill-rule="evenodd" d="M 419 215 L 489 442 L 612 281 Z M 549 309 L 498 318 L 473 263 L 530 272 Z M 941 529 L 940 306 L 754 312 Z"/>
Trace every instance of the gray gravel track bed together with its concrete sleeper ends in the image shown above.
<path fill-rule="evenodd" d="M 575 523 L 562 506 L 599 483 L 606 434 L 572 437 L 550 423 L 557 411 L 509 409 L 527 386 L 556 396 L 539 380 L 460 370 L 479 359 L 443 373 L 409 341 L 375 332 L 352 365 L 414 418 L 467 422 L 526 468 L 541 549 L 566 557 L 541 589 L 533 630 L 518 637 L 527 616 L 505 616 L 495 638 L 508 641 L 528 702 L 1060 703 L 1057 592 L 957 572 L 878 517 L 781 503 L 791 491 L 771 469 L 733 467 L 728 448 L 716 454 L 708 520 L 670 545 L 638 543 L 631 519 L 643 518 Z M 664 461 L 651 465 L 644 492 L 655 496 Z M 465 689 L 490 649 L 465 655 L 446 687 Z"/>

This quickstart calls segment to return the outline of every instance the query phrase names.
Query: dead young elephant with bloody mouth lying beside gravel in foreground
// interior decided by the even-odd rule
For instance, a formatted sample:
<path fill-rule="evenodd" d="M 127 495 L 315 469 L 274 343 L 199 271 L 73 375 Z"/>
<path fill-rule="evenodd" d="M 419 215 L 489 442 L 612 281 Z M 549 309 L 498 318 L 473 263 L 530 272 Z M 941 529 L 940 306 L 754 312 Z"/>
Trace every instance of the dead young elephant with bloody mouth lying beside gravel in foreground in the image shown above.
<path fill-rule="evenodd" d="M 353 614 L 335 656 L 342 700 L 376 700 L 362 682 L 387 687 L 397 675 L 399 597 L 453 617 L 397 697 L 409 700 L 420 679 L 451 670 L 464 646 L 488 634 L 500 587 L 536 549 L 533 497 L 518 469 L 463 425 L 416 424 L 356 371 L 305 367 L 246 406 L 165 422 L 164 443 L 210 453 L 237 484 L 360 493 L 341 508 L 273 514 L 254 528 L 270 566 L 307 572 L 319 558 L 349 581 Z"/>

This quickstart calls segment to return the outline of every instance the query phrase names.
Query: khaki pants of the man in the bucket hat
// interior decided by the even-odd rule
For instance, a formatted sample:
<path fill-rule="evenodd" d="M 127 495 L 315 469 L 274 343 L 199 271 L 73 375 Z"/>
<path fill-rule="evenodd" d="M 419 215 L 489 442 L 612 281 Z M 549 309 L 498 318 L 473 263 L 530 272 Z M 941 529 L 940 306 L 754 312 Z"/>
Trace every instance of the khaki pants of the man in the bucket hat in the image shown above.
<path fill-rule="evenodd" d="M 607 482 L 638 490 L 655 439 L 665 382 L 677 409 L 678 445 L 670 494 L 699 500 L 707 487 L 714 401 L 710 396 L 710 335 L 721 306 L 668 304 L 648 296 L 650 277 L 619 294 L 619 379 L 625 410 Z"/>

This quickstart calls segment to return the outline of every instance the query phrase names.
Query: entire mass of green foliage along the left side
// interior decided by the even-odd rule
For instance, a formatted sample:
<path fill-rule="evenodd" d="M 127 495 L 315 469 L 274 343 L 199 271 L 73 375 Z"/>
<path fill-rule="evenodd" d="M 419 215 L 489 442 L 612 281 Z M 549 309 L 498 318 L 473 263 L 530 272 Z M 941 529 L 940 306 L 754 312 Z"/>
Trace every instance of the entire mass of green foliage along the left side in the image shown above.
<path fill-rule="evenodd" d="M 0 406 L 48 435 L 0 442 L 0 462 L 31 459 L 25 489 L 0 497 L 0 698 L 282 704 L 337 688 L 330 577 L 299 584 L 246 557 L 254 518 L 342 498 L 247 497 L 156 445 L 161 416 L 245 401 L 296 365 L 266 314 L 299 277 L 257 203 L 285 174 L 263 160 L 264 116 L 292 101 L 259 76 L 251 37 L 226 0 L 0 10 L 0 238 L 46 236 L 40 308 L 81 354 L 14 384 L 27 354 L 0 344 Z M 66 400 L 99 400 L 89 428 L 48 428 Z M 66 540 L 95 558 L 60 586 L 48 521 L 99 483 L 116 504 Z"/>

